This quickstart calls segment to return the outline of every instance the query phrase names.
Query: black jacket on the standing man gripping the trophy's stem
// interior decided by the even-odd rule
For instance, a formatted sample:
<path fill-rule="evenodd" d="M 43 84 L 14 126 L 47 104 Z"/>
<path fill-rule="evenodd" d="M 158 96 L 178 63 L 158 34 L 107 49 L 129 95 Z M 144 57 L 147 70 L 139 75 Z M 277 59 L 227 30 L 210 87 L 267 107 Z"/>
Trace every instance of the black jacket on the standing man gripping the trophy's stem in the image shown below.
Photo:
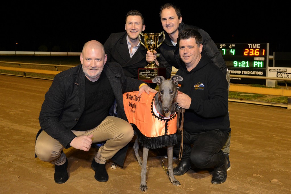
<path fill-rule="evenodd" d="M 206 52 L 206 54 L 212 60 L 212 62 L 215 65 L 217 65 L 220 68 L 220 70 L 223 72 L 223 74 L 226 76 L 225 61 L 221 53 L 219 52 L 217 46 L 215 45 L 215 43 L 209 36 L 209 34 L 205 32 L 203 29 L 200 29 L 199 27 L 187 25 L 181 22 L 179 25 L 179 32 L 184 29 L 196 29 L 199 31 L 203 39 L 202 41 L 203 50 Z M 165 33 L 165 40 L 162 43 L 162 45 L 159 47 L 159 54 L 160 54 L 159 64 L 161 64 L 161 66 L 166 68 L 167 78 L 171 76 L 172 66 L 179 69 L 180 66 L 183 64 L 183 61 L 180 59 L 180 56 L 179 56 L 178 48 L 179 48 L 178 44 L 177 44 L 177 47 L 174 46 L 171 43 L 170 36 L 167 33 Z"/>

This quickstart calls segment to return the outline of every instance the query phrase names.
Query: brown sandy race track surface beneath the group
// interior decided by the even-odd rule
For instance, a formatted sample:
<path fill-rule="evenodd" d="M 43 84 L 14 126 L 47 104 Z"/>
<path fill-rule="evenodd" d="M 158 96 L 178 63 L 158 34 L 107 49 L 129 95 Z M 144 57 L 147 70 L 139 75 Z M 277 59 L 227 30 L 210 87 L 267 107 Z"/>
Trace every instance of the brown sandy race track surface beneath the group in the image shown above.
<path fill-rule="evenodd" d="M 125 165 L 106 165 L 109 181 L 94 179 L 96 148 L 65 149 L 69 180 L 54 182 L 54 166 L 34 158 L 38 116 L 51 80 L 0 75 L 0 193 L 142 193 L 132 144 Z M 189 170 L 173 186 L 162 168 L 163 156 L 151 150 L 147 193 L 291 193 L 291 110 L 229 102 L 231 169 L 223 184 L 211 184 L 213 169 Z M 140 155 L 142 149 L 140 149 Z"/>

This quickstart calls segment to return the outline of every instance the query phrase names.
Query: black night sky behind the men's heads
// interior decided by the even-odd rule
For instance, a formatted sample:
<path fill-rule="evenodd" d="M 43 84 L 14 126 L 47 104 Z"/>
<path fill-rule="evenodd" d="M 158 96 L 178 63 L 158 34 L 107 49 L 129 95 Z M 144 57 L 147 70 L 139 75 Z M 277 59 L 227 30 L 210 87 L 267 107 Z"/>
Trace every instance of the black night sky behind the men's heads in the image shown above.
<path fill-rule="evenodd" d="M 160 33 L 160 6 L 168 2 L 180 7 L 184 23 L 204 29 L 215 43 L 270 43 L 270 55 L 291 52 L 286 4 L 192 0 L 2 2 L 0 50 L 81 52 L 89 40 L 104 44 L 110 33 L 125 31 L 130 9 L 143 14 L 143 33 Z"/>

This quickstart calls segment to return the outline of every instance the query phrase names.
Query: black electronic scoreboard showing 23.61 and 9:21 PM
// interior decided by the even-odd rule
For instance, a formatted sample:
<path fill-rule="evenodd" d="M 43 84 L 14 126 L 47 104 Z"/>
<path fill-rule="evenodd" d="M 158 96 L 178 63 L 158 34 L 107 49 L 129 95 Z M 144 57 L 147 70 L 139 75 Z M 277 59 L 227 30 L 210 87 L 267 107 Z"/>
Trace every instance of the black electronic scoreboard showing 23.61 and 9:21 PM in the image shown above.
<path fill-rule="evenodd" d="M 266 76 L 269 43 L 216 43 L 232 75 Z M 264 79 L 230 77 L 233 83 L 265 84 Z"/>

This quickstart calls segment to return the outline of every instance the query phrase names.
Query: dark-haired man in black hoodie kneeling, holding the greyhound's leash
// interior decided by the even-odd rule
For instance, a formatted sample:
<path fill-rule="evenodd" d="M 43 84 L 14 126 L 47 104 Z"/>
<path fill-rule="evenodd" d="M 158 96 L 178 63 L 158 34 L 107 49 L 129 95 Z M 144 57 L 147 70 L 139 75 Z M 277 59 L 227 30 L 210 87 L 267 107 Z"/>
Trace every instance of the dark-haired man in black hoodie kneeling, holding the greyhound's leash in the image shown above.
<path fill-rule="evenodd" d="M 182 159 L 174 175 L 191 168 L 214 167 L 212 184 L 221 184 L 227 177 L 227 158 L 221 150 L 230 133 L 228 117 L 228 82 L 203 50 L 202 36 L 195 29 L 185 29 L 178 35 L 180 58 L 184 62 L 176 75 L 177 103 L 185 109 Z M 181 138 L 178 137 L 178 140 Z M 180 144 L 174 148 L 179 154 Z"/>

